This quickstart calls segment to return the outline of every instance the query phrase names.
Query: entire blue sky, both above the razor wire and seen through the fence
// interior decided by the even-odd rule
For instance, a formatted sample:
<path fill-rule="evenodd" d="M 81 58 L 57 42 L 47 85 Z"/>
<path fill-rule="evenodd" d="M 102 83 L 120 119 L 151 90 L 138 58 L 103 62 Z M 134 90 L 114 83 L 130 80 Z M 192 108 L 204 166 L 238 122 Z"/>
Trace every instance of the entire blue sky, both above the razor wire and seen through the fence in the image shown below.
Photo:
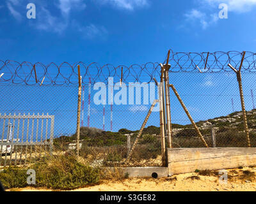
<path fill-rule="evenodd" d="M 28 3 L 36 6 L 35 19 L 26 17 Z M 218 18 L 221 3 L 228 5 L 227 19 Z M 129 66 L 163 62 L 170 48 L 174 52 L 255 52 L 255 10 L 256 0 L 2 0 L 0 59 L 45 64 L 83 61 L 86 64 L 98 62 L 100 65 L 111 63 Z M 232 112 L 232 98 L 235 110 L 240 110 L 234 75 L 172 73 L 171 80 L 196 121 Z M 148 82 L 147 79 L 145 81 Z M 246 75 L 243 81 L 248 110 L 252 109 L 250 90 L 256 93 L 254 81 L 254 75 Z M 6 87 L 3 94 L 8 92 L 12 96 L 13 89 L 13 86 Z M 59 91 L 59 88 L 52 88 L 52 91 L 47 89 L 46 95 L 45 89 L 42 89 L 38 91 L 42 99 L 37 99 L 35 104 L 32 98 L 38 89 L 32 89 L 15 88 L 17 97 L 6 97 L 9 100 L 2 98 L 0 112 L 42 113 L 44 110 L 44 113 L 56 115 L 56 134 L 74 133 L 76 87 L 63 87 Z M 26 97 L 20 94 L 21 91 L 26 93 Z M 58 94 L 59 101 L 56 98 Z M 54 95 L 53 101 L 51 95 Z M 87 98 L 88 87 L 85 102 Z M 24 103 L 15 100 L 24 100 Z M 189 124 L 175 100 L 175 96 L 172 96 L 173 122 Z M 86 108 L 87 104 L 84 110 L 85 124 Z M 102 106 L 92 105 L 92 108 L 91 124 L 102 128 Z M 132 112 L 132 108 L 114 106 L 114 131 L 140 128 L 149 106 L 138 107 L 138 112 Z M 107 106 L 108 130 L 109 110 Z M 148 125 L 159 126 L 158 114 L 153 113 Z"/>

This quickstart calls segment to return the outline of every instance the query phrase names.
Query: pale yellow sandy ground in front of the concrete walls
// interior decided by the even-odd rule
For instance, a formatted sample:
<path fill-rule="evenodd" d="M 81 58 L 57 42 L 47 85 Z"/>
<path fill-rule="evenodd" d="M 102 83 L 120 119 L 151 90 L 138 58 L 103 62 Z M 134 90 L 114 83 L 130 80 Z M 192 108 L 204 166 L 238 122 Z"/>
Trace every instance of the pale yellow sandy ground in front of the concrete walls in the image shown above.
<path fill-rule="evenodd" d="M 256 167 L 227 170 L 227 183 L 220 183 L 218 171 L 184 173 L 161 179 L 103 180 L 99 185 L 74 191 L 256 191 Z M 206 174 L 206 175 L 205 175 Z M 51 191 L 51 189 L 10 189 Z"/>

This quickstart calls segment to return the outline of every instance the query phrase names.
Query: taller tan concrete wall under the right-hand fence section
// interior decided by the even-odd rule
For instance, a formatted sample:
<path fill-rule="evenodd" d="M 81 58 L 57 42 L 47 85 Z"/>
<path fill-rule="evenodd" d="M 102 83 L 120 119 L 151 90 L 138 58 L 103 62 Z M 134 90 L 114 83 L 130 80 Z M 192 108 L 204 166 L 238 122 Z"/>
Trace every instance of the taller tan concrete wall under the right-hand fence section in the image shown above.
<path fill-rule="evenodd" d="M 169 175 L 256 165 L 256 148 L 168 149 Z"/>

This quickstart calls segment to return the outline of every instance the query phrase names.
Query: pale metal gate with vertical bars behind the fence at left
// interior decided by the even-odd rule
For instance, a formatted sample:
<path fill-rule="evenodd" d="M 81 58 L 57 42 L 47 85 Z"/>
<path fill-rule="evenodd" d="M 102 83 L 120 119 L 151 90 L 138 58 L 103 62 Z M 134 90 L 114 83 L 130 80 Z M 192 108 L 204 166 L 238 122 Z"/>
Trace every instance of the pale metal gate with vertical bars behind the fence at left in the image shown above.
<path fill-rule="evenodd" d="M 35 162 L 52 154 L 54 115 L 1 115 L 0 166 Z"/>

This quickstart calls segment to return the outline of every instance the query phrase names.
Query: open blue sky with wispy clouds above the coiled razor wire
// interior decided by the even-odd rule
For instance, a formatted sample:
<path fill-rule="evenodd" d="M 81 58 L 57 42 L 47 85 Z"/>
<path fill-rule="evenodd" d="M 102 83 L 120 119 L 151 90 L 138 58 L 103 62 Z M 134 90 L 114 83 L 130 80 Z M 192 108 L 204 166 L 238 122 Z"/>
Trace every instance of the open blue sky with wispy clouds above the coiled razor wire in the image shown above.
<path fill-rule="evenodd" d="M 36 19 L 26 17 L 28 3 Z M 220 19 L 220 3 L 228 19 Z M 3 0 L 0 58 L 133 64 L 176 52 L 253 51 L 255 0 Z"/>

